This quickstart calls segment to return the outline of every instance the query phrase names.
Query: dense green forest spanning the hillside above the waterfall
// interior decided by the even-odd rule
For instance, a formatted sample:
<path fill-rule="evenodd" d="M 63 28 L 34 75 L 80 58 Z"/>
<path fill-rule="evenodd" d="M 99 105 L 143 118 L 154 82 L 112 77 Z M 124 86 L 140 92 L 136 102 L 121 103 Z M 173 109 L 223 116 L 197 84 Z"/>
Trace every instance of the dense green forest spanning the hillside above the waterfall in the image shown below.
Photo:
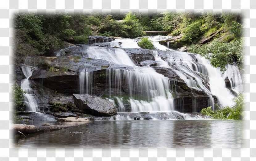
<path fill-rule="evenodd" d="M 243 62 L 242 24 L 237 14 L 18 14 L 14 23 L 17 62 L 23 62 L 26 56 L 47 55 L 65 42 L 88 43 L 89 35 L 136 38 L 146 36 L 144 31 L 167 31 L 166 35 L 177 36 L 169 42 L 170 48 L 185 46 L 188 52 L 208 58 L 221 70 L 227 64 Z M 150 48 L 145 43 L 143 48 Z"/>

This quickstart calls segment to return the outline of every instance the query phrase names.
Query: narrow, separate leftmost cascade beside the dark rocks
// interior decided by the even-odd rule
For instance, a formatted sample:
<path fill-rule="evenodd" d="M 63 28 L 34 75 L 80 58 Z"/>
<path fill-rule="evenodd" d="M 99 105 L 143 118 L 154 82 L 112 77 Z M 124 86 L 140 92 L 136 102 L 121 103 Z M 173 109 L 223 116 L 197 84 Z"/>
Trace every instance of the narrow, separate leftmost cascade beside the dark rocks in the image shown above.
<path fill-rule="evenodd" d="M 26 93 L 24 94 L 25 99 L 25 105 L 27 107 L 28 111 L 37 112 L 38 106 L 36 101 L 36 96 L 34 94 L 34 91 L 30 87 L 29 77 L 31 77 L 33 73 L 33 69 L 31 66 L 21 66 L 22 72 L 24 76 L 26 77 L 21 81 L 21 89 L 23 89 Z"/>

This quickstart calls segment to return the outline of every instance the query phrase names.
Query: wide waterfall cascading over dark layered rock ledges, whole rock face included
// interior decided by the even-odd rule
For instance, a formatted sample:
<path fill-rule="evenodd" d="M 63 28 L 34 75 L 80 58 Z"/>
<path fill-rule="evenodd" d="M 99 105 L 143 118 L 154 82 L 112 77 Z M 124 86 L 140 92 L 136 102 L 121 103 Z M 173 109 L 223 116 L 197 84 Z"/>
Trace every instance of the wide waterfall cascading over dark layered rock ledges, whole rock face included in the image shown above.
<path fill-rule="evenodd" d="M 26 76 L 22 88 L 28 91 L 28 110 L 37 111 L 30 81 L 37 86 L 39 101 L 44 97 L 40 90 L 47 91 L 49 97 L 71 97 L 69 102 L 59 100 L 69 111 L 83 113 L 72 100 L 72 94 L 76 93 L 112 102 L 118 114 L 102 118 L 110 120 L 202 119 L 199 114 L 183 112 L 198 113 L 208 106 L 214 109 L 215 103 L 232 106 L 232 98 L 242 92 L 242 74 L 236 65 L 228 65 L 222 73 L 200 55 L 159 44 L 170 37 L 150 36 L 149 39 L 154 50 L 141 49 L 137 45 L 139 39 L 91 36 L 90 44 L 67 47 L 52 57 L 42 57 L 55 71 L 33 72 L 22 67 Z M 43 111 L 48 111 L 53 109 L 49 107 L 54 102 L 42 106 L 47 107 Z M 140 112 L 145 111 L 149 113 L 141 117 Z"/>

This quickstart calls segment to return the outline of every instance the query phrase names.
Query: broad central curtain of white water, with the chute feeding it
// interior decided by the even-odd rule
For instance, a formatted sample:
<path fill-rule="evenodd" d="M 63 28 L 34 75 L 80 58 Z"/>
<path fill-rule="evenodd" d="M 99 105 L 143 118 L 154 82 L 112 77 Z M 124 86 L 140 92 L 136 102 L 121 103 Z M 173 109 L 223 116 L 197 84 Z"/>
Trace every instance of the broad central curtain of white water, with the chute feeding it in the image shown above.
<path fill-rule="evenodd" d="M 106 80 L 109 84 L 110 97 L 112 89 L 121 91 L 122 83 L 127 85 L 127 93 L 130 95 L 127 101 L 131 105 L 132 112 L 174 109 L 169 79 L 155 72 L 153 68 L 136 66 L 122 49 L 89 47 L 87 53 L 89 58 L 103 59 L 125 67 L 124 69 L 108 68 Z M 117 101 L 122 100 L 120 98 Z M 119 108 L 122 108 L 122 104 L 118 104 Z"/>

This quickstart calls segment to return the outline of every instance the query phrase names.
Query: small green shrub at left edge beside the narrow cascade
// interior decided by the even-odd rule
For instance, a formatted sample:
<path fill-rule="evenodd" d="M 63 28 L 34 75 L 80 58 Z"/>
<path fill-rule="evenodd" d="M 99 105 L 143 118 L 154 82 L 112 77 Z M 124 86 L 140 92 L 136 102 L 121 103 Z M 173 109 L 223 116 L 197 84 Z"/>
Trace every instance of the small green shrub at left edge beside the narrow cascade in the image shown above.
<path fill-rule="evenodd" d="M 16 107 L 18 110 L 22 110 L 22 106 L 24 106 L 24 93 L 25 91 L 20 88 L 19 85 L 14 85 L 13 86 L 13 102 L 14 102 L 14 107 Z"/>

